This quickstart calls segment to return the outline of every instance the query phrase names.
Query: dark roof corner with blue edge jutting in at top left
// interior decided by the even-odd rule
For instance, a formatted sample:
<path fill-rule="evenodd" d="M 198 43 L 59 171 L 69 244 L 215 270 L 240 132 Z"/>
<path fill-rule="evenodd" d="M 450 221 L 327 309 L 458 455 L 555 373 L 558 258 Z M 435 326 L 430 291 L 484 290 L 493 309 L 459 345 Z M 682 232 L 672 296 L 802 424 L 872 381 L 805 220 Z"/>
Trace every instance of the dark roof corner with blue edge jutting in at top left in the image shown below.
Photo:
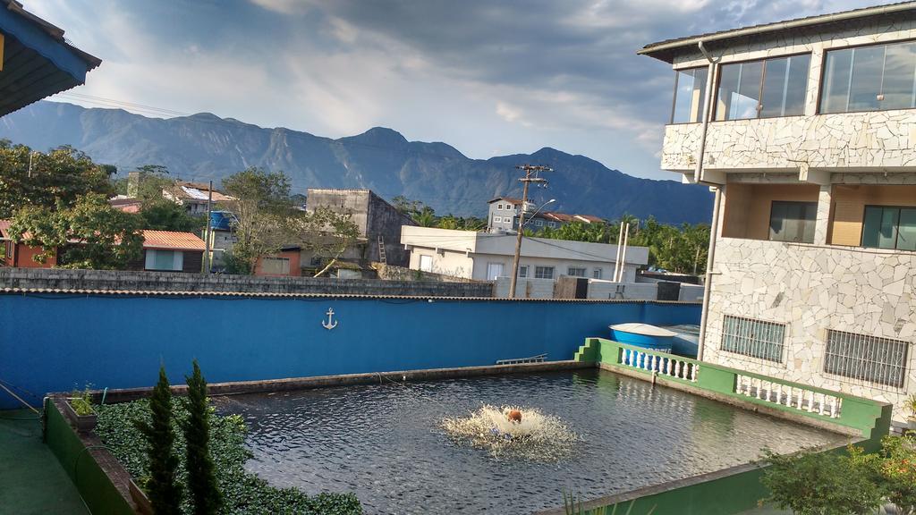
<path fill-rule="evenodd" d="M 0 116 L 86 82 L 86 73 L 102 63 L 63 34 L 16 0 L 0 0 Z"/>

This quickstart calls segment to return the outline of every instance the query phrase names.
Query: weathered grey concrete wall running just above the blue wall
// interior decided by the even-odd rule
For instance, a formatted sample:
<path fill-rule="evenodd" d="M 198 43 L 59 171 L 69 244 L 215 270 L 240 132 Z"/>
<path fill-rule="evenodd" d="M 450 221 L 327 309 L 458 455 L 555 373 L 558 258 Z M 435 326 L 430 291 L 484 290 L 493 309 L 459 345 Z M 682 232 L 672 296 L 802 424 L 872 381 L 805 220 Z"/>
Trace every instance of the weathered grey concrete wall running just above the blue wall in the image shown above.
<path fill-rule="evenodd" d="M 0 289 L 233 291 L 333 295 L 491 297 L 489 283 L 381 279 L 273 278 L 180 272 L 0 268 Z"/>

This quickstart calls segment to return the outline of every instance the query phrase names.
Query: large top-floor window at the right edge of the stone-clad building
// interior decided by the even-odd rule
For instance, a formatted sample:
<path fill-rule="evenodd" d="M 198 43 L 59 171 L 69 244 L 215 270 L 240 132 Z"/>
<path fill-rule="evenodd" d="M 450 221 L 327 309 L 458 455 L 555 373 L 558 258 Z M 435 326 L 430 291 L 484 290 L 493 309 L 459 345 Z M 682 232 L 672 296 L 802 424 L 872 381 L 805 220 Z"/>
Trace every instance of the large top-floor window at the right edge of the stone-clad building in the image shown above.
<path fill-rule="evenodd" d="M 916 43 L 827 51 L 821 113 L 916 107 Z"/>

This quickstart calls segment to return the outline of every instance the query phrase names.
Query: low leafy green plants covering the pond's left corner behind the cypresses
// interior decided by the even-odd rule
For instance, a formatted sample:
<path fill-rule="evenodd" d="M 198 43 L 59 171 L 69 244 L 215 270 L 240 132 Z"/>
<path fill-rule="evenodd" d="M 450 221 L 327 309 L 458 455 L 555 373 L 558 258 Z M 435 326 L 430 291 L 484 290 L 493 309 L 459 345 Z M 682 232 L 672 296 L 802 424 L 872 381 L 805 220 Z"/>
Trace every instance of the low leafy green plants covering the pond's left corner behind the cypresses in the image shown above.
<path fill-rule="evenodd" d="M 188 420 L 188 411 L 179 399 L 172 400 L 172 425 L 177 433 L 176 448 L 186 443 L 180 427 Z M 251 457 L 245 449 L 245 421 L 238 415 L 219 415 L 213 407 L 210 416 L 210 452 L 219 489 L 223 492 L 221 513 L 255 515 L 263 513 L 300 513 L 303 515 L 358 515 L 363 512 L 352 493 L 322 493 L 309 496 L 296 488 L 274 488 L 267 481 L 245 471 L 245 461 Z M 131 421 L 150 420 L 149 400 L 99 406 L 95 433 L 111 450 L 114 457 L 133 477 L 147 477 L 149 462 L 144 452 L 143 437 Z M 185 455 L 179 454 L 178 481 L 187 484 Z M 191 500 L 181 502 L 182 513 L 191 514 Z"/>

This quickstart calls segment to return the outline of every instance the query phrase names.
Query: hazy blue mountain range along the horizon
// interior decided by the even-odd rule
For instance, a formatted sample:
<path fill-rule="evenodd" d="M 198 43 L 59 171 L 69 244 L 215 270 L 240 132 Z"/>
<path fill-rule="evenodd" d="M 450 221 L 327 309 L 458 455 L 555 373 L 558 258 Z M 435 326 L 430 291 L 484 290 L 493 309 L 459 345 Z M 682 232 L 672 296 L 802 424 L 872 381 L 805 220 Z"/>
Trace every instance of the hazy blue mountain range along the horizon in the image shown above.
<path fill-rule="evenodd" d="M 545 174 L 549 188 L 535 189 L 531 196 L 535 202 L 556 199 L 552 211 L 605 218 L 654 215 L 670 224 L 708 223 L 712 214 L 712 195 L 702 186 L 632 177 L 554 148 L 470 159 L 445 143 L 408 141 L 384 127 L 333 139 L 209 113 L 161 119 L 39 102 L 0 118 L 0 138 L 42 151 L 70 145 L 96 162 L 115 165 L 119 173 L 164 165 L 189 181 L 218 183 L 249 166 L 282 170 L 293 192 L 367 188 L 386 199 L 404 195 L 437 214 L 455 215 L 484 215 L 488 200 L 520 196 L 515 166 L 539 164 L 554 171 Z"/>

